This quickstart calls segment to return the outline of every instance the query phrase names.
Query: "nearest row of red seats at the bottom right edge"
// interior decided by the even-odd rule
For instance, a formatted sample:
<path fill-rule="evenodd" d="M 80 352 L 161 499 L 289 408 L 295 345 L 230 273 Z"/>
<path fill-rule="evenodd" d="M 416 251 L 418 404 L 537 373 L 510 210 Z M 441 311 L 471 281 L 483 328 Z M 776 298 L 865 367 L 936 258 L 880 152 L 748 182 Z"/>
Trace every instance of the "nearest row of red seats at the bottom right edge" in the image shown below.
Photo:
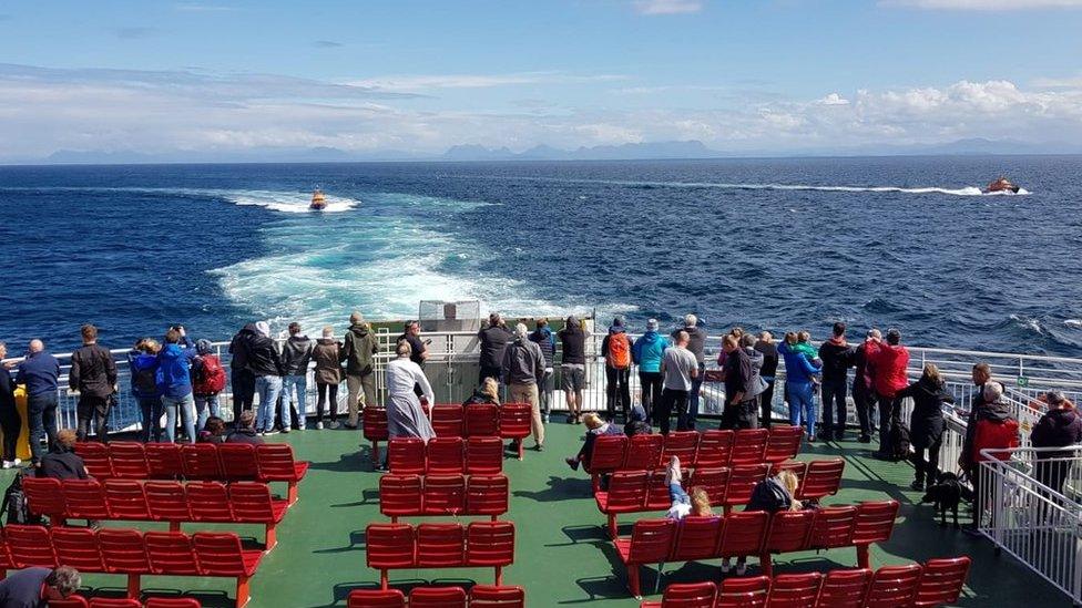
<path fill-rule="evenodd" d="M 929 559 L 923 566 L 876 570 L 726 578 L 670 585 L 661 601 L 642 608 L 932 608 L 955 604 L 969 575 L 970 559 Z"/>

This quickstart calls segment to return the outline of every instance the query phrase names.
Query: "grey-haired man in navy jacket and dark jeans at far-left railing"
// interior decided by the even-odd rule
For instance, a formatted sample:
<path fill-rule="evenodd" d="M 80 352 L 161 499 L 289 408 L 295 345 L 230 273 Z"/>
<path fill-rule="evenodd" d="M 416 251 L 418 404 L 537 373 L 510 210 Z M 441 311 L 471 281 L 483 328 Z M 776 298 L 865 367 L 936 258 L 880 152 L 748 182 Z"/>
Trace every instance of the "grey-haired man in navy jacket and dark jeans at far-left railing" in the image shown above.
<path fill-rule="evenodd" d="M 19 363 L 16 384 L 27 387 L 27 415 L 30 418 L 31 462 L 41 462 L 41 440 L 49 437 L 49 449 L 57 443 L 57 389 L 60 362 L 45 351 L 45 343 L 31 340 L 27 358 Z"/>

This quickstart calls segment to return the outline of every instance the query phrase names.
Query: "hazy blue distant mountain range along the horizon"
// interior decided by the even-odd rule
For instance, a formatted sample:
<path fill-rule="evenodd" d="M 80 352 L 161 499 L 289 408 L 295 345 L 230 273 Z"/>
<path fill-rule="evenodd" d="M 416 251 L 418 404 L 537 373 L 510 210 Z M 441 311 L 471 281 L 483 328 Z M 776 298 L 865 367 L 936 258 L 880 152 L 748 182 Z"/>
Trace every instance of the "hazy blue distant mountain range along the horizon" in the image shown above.
<path fill-rule="evenodd" d="M 396 150 L 349 152 L 335 147 L 263 148 L 245 152 L 140 152 L 62 150 L 44 158 L 27 158 L 18 164 L 156 164 L 156 163 L 358 163 L 358 162 L 504 162 L 504 161 L 645 161 L 678 158 L 739 158 L 794 156 L 915 156 L 996 154 L 1082 154 L 1082 145 L 1065 142 L 1032 144 L 1013 140 L 970 138 L 942 144 L 874 144 L 855 147 L 816 147 L 778 153 L 768 150 L 719 151 L 703 142 L 644 142 L 561 150 L 538 145 L 523 152 L 507 147 L 457 145 L 443 154 L 420 154 Z"/>

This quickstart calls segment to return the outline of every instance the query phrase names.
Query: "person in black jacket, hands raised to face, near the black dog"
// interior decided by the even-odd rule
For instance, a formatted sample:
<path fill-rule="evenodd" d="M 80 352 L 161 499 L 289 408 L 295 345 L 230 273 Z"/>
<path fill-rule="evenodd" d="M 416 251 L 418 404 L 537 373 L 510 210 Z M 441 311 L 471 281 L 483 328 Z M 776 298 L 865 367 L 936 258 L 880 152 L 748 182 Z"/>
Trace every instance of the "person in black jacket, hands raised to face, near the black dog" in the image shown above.
<path fill-rule="evenodd" d="M 913 400 L 909 418 L 909 443 L 917 453 L 917 476 L 913 490 L 927 490 L 939 477 L 939 447 L 943 442 L 943 403 L 953 403 L 947 383 L 935 363 L 925 364 L 920 379 L 898 391 L 896 399 Z M 928 457 L 925 457 L 927 452 Z M 927 484 L 927 485 L 926 485 Z"/>

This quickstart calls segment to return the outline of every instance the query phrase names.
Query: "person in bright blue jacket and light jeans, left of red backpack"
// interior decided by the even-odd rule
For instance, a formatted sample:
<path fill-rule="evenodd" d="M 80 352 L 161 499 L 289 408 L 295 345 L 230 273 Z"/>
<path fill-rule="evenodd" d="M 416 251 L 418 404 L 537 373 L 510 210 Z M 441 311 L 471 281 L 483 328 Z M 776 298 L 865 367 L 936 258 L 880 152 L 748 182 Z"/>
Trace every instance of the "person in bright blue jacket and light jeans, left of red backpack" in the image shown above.
<path fill-rule="evenodd" d="M 181 340 L 184 348 L 181 348 Z M 173 327 L 165 333 L 165 347 L 157 353 L 157 389 L 162 392 L 165 409 L 165 439 L 176 439 L 176 414 L 187 433 L 188 443 L 195 443 L 195 396 L 192 394 L 192 363 L 197 357 L 195 347 L 183 327 Z"/>

